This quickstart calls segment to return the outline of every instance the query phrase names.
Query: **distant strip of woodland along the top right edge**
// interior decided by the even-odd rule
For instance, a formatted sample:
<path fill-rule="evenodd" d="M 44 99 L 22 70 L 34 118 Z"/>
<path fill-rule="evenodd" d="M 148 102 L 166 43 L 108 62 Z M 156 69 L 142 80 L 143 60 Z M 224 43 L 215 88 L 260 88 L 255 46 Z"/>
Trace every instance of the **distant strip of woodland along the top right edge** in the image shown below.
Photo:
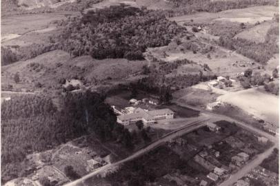
<path fill-rule="evenodd" d="M 237 1 L 211 1 L 211 0 L 170 0 L 175 8 L 165 10 L 168 17 L 177 17 L 194 12 L 221 12 L 223 10 L 247 8 L 249 6 L 278 6 L 274 0 L 237 0 Z"/>

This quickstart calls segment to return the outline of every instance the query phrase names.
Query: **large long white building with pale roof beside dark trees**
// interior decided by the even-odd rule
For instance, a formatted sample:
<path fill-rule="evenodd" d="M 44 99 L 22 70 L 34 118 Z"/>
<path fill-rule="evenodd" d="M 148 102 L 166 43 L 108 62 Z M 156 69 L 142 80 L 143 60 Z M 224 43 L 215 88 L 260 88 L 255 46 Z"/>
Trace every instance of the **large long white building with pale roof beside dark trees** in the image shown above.
<path fill-rule="evenodd" d="M 146 111 L 141 108 L 137 108 L 131 114 L 117 116 L 117 122 L 122 125 L 129 125 L 136 123 L 137 121 L 143 121 L 144 125 L 149 125 L 157 120 L 166 118 L 174 118 L 174 112 L 170 109 Z"/>

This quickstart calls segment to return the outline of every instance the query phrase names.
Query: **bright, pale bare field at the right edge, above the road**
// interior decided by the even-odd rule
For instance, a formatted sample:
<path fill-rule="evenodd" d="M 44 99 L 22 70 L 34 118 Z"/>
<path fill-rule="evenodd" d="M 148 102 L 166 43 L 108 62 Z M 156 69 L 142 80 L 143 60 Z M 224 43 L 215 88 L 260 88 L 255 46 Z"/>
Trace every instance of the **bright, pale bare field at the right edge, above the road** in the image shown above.
<path fill-rule="evenodd" d="M 279 98 L 277 96 L 252 88 L 224 94 L 219 96 L 217 100 L 240 107 L 248 114 L 279 125 Z"/>

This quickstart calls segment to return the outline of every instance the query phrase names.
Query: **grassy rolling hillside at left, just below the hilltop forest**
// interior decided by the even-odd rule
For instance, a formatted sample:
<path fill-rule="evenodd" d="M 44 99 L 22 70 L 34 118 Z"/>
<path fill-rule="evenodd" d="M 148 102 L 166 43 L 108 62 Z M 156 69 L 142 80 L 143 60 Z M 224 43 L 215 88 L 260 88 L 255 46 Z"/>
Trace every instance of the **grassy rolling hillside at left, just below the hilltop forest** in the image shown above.
<path fill-rule="evenodd" d="M 91 56 L 79 56 L 70 59 L 67 52 L 55 50 L 46 52 L 33 59 L 19 61 L 2 67 L 2 82 L 14 88 L 33 88 L 40 82 L 43 87 L 59 85 L 60 78 L 73 79 L 83 76 L 84 83 L 97 83 L 108 79 L 118 80 L 141 71 L 147 61 L 128 61 L 127 59 L 92 59 Z M 37 64 L 37 68 L 32 65 Z M 36 66 L 36 65 L 35 65 Z M 12 77 L 19 72 L 21 81 L 14 83 Z M 3 84 L 2 84 L 3 85 Z"/>

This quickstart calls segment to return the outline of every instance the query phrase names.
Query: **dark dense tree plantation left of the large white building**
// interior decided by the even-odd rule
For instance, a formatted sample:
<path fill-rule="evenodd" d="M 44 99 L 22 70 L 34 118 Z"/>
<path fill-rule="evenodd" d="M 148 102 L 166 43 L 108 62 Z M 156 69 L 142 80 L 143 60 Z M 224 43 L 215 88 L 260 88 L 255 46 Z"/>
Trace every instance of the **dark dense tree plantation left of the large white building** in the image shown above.
<path fill-rule="evenodd" d="M 40 152 L 84 134 L 133 148 L 132 135 L 118 124 L 104 96 L 94 92 L 61 96 L 57 110 L 48 96 L 21 96 L 1 105 L 1 174 L 17 178 L 27 154 Z"/>

